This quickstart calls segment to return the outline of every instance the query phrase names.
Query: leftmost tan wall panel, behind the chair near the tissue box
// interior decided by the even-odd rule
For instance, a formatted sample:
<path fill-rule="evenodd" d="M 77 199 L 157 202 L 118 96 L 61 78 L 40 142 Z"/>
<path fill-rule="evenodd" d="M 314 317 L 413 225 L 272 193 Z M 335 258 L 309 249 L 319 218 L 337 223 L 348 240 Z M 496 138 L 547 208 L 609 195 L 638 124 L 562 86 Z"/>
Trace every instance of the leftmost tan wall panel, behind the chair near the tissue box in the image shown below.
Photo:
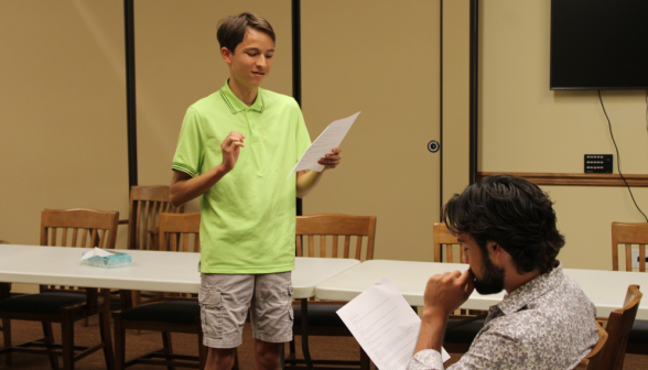
<path fill-rule="evenodd" d="M 0 239 L 39 244 L 43 208 L 128 217 L 122 7 L 0 1 Z"/>

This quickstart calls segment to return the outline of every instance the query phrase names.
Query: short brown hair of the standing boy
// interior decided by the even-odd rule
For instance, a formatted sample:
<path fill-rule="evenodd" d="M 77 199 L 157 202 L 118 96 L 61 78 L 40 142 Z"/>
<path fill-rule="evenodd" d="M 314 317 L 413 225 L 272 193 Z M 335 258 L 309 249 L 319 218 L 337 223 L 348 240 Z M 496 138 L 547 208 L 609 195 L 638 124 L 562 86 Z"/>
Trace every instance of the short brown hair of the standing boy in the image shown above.
<path fill-rule="evenodd" d="M 227 47 L 234 54 L 236 46 L 246 36 L 248 28 L 266 33 L 272 39 L 272 42 L 276 42 L 274 30 L 272 30 L 270 22 L 261 15 L 244 12 L 238 15 L 226 17 L 218 22 L 216 39 L 218 39 L 220 47 Z"/>

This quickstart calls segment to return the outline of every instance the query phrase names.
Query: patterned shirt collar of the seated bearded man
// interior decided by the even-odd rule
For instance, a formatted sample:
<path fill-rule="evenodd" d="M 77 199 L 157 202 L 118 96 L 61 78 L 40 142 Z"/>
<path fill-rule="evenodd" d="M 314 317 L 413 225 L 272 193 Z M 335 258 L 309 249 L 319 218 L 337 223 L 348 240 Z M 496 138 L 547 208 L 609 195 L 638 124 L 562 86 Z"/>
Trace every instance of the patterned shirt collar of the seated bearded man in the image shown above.
<path fill-rule="evenodd" d="M 509 315 L 520 311 L 536 298 L 557 289 L 563 280 L 562 263 L 557 261 L 557 266 L 548 273 L 541 274 L 525 285 L 507 294 L 497 305 L 503 314 Z"/>

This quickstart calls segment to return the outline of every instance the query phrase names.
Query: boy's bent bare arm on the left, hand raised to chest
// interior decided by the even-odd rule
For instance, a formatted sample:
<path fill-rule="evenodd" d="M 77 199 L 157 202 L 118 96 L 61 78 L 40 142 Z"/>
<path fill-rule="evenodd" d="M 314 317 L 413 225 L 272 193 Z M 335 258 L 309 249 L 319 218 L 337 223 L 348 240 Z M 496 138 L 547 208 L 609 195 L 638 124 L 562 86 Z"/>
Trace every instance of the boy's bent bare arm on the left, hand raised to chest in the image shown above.
<path fill-rule="evenodd" d="M 236 165 L 236 161 L 238 161 L 240 149 L 245 148 L 245 138 L 246 137 L 242 133 L 231 131 L 220 144 L 220 149 L 223 150 L 223 163 L 198 176 L 192 177 L 187 173 L 173 170 L 173 177 L 171 178 L 171 187 L 169 191 L 171 204 L 175 207 L 180 207 L 183 204 L 197 198 L 220 181 L 223 176 L 229 173 Z"/>

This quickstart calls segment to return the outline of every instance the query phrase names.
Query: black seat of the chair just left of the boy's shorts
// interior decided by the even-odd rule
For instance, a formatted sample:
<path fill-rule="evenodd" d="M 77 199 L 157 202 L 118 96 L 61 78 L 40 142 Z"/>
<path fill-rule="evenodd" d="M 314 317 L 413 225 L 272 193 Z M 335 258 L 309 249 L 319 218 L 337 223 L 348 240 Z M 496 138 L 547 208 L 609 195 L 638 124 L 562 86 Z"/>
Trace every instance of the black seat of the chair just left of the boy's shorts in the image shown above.
<path fill-rule="evenodd" d="M 201 305 L 195 301 L 169 301 L 133 307 L 121 313 L 127 322 L 199 325 Z"/>

